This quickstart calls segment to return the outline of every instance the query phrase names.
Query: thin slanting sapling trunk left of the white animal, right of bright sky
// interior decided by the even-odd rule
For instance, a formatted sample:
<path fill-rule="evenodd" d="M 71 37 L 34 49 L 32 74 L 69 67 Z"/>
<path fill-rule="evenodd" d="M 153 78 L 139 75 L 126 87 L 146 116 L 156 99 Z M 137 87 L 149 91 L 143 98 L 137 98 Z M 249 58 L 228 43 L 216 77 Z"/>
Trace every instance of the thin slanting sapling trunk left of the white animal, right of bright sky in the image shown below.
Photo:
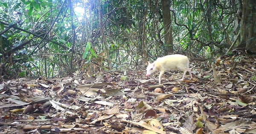
<path fill-rule="evenodd" d="M 111 70 L 112 69 L 112 64 L 111 64 L 111 59 L 110 59 L 110 54 L 109 54 L 109 49 L 108 49 L 108 43 L 106 41 L 105 33 L 104 33 L 104 28 L 102 24 L 102 11 L 101 11 L 101 6 L 100 6 L 100 0 L 98 0 L 98 10 L 99 10 L 99 26 L 100 26 L 100 33 L 102 35 L 102 40 L 103 44 L 105 46 L 106 54 L 108 57 L 108 68 Z"/>

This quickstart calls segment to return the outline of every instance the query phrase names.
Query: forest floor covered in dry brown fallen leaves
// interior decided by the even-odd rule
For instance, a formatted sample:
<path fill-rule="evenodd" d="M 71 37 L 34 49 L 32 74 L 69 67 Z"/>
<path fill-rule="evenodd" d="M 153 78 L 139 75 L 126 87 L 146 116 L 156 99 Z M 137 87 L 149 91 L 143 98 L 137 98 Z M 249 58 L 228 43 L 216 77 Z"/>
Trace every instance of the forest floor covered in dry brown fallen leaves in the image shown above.
<path fill-rule="evenodd" d="M 0 84 L 0 134 L 256 134 L 256 57 Z M 212 68 L 213 67 L 213 68 Z"/>

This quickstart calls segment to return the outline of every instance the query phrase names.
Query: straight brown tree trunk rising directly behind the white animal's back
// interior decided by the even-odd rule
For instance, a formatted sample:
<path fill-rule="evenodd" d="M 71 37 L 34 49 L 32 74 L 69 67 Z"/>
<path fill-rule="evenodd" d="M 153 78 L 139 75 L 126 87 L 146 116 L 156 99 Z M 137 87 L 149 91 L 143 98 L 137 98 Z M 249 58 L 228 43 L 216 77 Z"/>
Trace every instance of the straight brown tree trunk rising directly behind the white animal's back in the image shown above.
<path fill-rule="evenodd" d="M 164 30 L 164 48 L 165 54 L 173 53 L 173 40 L 172 40 L 172 25 L 171 25 L 171 12 L 170 2 L 171 0 L 161 0 L 163 9 L 163 30 Z"/>

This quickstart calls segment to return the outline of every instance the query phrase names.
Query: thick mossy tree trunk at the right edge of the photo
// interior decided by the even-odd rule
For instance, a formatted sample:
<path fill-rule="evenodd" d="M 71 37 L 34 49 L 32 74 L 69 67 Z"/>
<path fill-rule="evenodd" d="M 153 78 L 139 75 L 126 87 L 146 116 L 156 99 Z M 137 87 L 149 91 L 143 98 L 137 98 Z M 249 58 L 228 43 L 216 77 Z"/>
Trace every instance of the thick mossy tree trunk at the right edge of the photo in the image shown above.
<path fill-rule="evenodd" d="M 240 2 L 242 2 L 242 16 L 240 44 L 237 48 L 256 53 L 256 2 L 255 0 L 242 0 Z"/>

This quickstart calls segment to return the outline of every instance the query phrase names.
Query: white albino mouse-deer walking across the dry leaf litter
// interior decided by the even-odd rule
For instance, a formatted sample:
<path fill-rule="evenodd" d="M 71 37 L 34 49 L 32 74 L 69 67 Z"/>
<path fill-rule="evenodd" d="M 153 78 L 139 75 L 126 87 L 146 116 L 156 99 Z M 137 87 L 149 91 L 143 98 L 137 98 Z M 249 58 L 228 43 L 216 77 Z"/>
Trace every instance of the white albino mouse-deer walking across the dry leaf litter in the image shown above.
<path fill-rule="evenodd" d="M 191 79 L 193 78 L 191 74 L 191 69 L 189 68 L 189 58 L 181 54 L 166 55 L 164 57 L 157 58 L 157 60 L 154 61 L 154 63 L 148 62 L 146 76 L 149 76 L 155 71 L 160 71 L 160 74 L 159 74 L 159 84 L 160 84 L 161 76 L 165 71 L 169 71 L 169 70 L 183 71 L 184 74 L 181 80 L 184 80 L 184 77 L 187 71 L 189 72 Z"/>

